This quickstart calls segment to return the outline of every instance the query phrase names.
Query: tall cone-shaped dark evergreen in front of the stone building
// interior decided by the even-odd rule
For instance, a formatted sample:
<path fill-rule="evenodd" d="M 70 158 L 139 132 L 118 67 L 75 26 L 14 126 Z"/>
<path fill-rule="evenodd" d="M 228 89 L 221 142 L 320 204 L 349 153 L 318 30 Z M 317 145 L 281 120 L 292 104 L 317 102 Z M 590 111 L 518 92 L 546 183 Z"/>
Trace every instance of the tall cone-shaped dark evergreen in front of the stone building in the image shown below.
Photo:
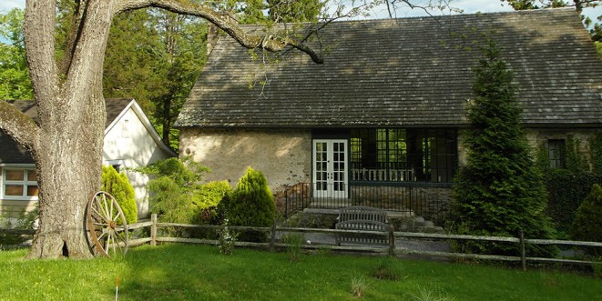
<path fill-rule="evenodd" d="M 460 234 L 550 238 L 544 215 L 546 190 L 520 125 L 513 74 L 489 42 L 474 67 L 474 102 L 465 131 L 467 165 L 454 186 L 454 215 Z M 475 253 L 518 255 L 516 246 L 466 243 Z M 548 252 L 535 248 L 530 255 Z"/>

